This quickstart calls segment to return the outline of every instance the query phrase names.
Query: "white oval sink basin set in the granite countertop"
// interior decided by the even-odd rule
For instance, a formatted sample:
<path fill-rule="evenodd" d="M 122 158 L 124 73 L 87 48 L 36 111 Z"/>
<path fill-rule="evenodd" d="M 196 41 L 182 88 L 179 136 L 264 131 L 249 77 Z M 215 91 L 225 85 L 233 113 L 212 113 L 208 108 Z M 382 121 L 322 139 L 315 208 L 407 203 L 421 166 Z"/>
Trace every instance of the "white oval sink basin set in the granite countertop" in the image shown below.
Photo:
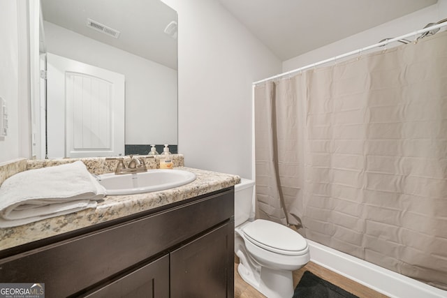
<path fill-rule="evenodd" d="M 132 195 L 189 184 L 196 179 L 196 174 L 184 170 L 148 170 L 135 174 L 102 174 L 98 177 L 107 195 Z"/>

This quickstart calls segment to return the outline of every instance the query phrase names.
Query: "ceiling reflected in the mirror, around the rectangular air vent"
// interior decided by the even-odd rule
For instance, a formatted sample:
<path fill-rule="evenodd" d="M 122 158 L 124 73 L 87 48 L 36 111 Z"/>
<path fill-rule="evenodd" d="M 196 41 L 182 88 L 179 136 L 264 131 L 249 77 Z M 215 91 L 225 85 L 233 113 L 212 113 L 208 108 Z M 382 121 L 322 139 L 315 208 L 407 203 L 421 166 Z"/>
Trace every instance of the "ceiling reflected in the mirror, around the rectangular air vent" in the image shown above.
<path fill-rule="evenodd" d="M 177 12 L 159 0 L 42 0 L 43 20 L 177 69 L 177 39 L 164 33 Z M 132 5 L 129 5 L 131 3 Z M 120 31 L 119 38 L 86 26 L 87 19 Z"/>

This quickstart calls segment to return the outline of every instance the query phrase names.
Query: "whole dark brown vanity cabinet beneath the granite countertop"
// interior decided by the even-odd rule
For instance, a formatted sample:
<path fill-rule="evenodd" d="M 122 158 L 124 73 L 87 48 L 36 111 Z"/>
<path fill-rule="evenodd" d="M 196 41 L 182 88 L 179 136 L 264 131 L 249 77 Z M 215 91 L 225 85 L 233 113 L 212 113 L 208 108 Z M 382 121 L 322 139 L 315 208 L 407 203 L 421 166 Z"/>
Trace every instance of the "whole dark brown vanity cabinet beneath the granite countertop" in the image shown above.
<path fill-rule="evenodd" d="M 0 283 L 45 297 L 234 297 L 234 190 L 0 251 Z"/>

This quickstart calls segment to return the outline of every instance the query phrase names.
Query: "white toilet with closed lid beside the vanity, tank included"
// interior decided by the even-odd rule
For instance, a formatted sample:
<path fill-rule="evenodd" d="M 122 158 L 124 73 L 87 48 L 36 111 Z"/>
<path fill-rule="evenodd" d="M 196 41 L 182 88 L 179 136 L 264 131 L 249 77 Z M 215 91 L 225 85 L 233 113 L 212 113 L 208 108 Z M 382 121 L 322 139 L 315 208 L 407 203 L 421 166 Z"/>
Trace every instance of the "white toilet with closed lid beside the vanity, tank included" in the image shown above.
<path fill-rule="evenodd" d="M 254 181 L 235 185 L 235 253 L 237 271 L 268 298 L 293 297 L 292 271 L 310 260 L 309 246 L 298 232 L 279 223 L 252 221 Z"/>

